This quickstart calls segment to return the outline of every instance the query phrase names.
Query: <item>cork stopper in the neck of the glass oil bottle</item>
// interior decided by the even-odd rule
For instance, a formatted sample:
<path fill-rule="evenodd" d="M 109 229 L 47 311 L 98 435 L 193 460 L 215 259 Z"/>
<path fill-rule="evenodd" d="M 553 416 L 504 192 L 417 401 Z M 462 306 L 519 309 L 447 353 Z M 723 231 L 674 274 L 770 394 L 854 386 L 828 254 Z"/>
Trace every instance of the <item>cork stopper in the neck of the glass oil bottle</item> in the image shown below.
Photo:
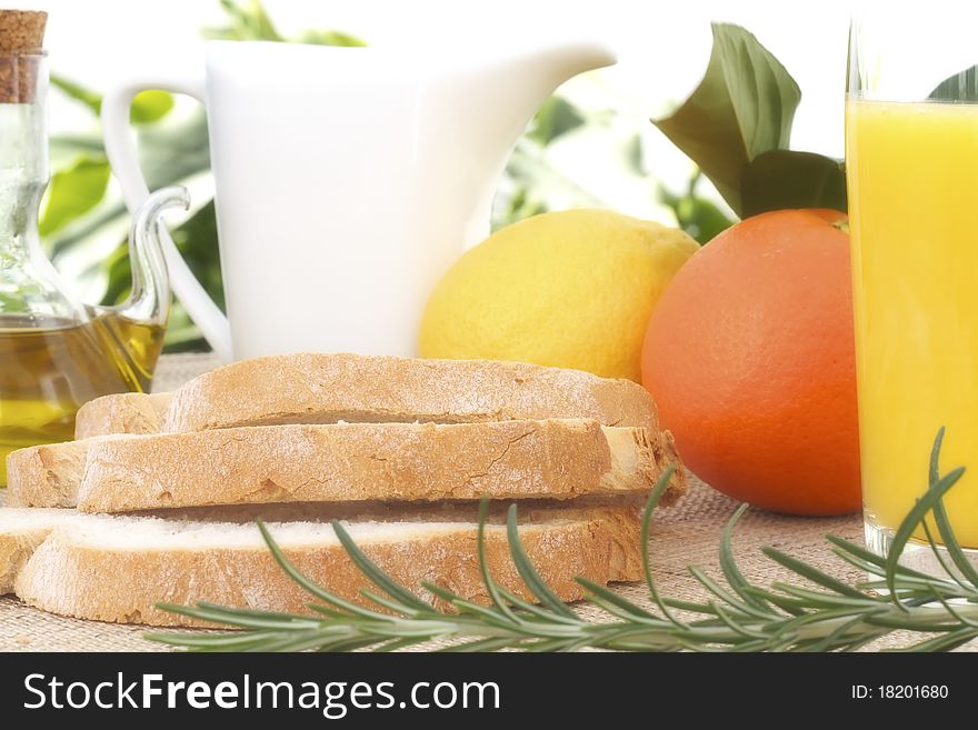
<path fill-rule="evenodd" d="M 32 103 L 48 13 L 0 10 L 0 103 Z"/>

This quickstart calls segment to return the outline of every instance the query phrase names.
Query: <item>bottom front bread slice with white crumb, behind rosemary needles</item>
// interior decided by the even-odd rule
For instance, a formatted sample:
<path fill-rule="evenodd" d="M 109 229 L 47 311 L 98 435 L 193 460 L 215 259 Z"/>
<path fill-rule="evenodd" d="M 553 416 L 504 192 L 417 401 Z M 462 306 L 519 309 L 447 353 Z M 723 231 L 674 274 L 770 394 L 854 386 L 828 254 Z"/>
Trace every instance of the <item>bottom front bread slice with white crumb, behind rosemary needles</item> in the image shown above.
<path fill-rule="evenodd" d="M 627 501 L 627 500 L 626 500 Z M 2 512 L 3 510 L 0 510 Z M 429 581 L 486 602 L 476 552 L 475 504 L 345 523 L 396 581 Z M 501 512 L 486 531 L 493 578 L 530 598 L 510 559 Z M 316 583 L 349 600 L 372 588 L 325 522 L 270 522 L 286 556 Z M 563 600 L 581 597 L 576 576 L 606 584 L 641 576 L 639 510 L 537 507 L 521 510 L 520 538 Z M 17 596 L 53 613 L 151 626 L 206 626 L 156 608 L 163 601 L 308 613 L 310 596 L 275 563 L 255 524 L 208 519 L 81 514 L 56 526 L 21 568 Z M 423 598 L 431 597 L 419 590 Z"/>

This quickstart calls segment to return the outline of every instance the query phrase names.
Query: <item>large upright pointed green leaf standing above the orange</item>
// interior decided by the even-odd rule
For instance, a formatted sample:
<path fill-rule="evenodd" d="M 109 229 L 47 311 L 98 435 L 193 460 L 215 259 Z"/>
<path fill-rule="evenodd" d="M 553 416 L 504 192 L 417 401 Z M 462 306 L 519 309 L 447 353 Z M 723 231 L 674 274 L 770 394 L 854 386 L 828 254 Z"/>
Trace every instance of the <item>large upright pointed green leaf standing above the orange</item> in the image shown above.
<path fill-rule="evenodd" d="M 787 149 L 801 91 L 748 31 L 715 23 L 707 72 L 672 116 L 652 120 L 696 162 L 738 214 L 748 162 Z"/>

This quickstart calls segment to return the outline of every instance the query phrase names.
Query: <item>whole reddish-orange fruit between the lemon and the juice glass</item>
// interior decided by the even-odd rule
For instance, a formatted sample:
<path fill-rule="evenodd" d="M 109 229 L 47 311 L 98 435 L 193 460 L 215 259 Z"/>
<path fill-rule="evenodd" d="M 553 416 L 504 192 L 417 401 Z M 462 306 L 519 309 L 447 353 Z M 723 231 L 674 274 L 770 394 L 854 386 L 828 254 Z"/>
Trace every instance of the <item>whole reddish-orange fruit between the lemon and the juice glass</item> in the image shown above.
<path fill-rule="evenodd" d="M 781 210 L 720 233 L 672 279 L 642 347 L 642 383 L 689 469 L 778 512 L 860 506 L 845 220 Z"/>

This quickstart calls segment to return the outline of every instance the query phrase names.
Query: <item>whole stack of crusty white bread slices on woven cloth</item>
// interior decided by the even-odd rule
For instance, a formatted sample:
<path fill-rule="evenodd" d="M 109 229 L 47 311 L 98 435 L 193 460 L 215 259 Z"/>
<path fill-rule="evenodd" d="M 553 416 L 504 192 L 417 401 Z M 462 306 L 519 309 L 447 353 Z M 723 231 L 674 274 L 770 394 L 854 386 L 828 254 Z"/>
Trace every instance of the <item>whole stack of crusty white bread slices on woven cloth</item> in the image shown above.
<path fill-rule="evenodd" d="M 640 577 L 640 504 L 679 466 L 640 386 L 489 361 L 261 358 L 173 393 L 92 401 L 76 436 L 8 458 L 0 592 L 157 626 L 191 623 L 161 601 L 306 610 L 259 517 L 302 571 L 351 600 L 367 586 L 333 519 L 399 582 L 485 600 L 482 497 L 495 500 L 486 539 L 497 580 L 526 596 L 501 526 L 519 501 L 530 557 L 572 600 L 576 576 Z M 663 503 L 683 489 L 678 469 Z"/>

